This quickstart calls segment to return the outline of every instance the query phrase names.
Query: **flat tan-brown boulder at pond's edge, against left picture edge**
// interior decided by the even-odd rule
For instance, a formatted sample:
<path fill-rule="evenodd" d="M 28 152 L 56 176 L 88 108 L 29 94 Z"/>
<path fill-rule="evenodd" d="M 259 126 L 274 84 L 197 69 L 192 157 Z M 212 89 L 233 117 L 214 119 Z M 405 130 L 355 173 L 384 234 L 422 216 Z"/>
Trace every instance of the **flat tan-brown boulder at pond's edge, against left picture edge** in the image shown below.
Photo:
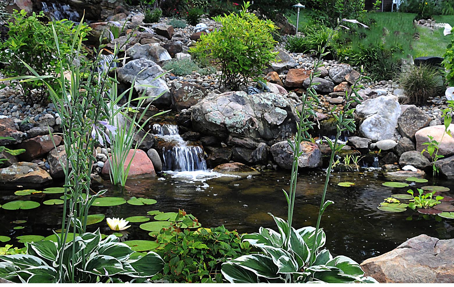
<path fill-rule="evenodd" d="M 35 163 L 17 162 L 0 169 L 0 182 L 3 186 L 41 187 L 52 182 L 52 177 Z"/>

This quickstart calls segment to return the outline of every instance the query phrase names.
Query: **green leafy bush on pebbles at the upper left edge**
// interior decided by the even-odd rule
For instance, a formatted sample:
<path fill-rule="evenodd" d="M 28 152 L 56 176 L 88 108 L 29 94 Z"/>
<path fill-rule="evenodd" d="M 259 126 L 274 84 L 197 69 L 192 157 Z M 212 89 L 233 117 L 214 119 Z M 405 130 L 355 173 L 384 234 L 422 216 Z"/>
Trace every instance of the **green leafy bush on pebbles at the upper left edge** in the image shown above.
<path fill-rule="evenodd" d="M 27 16 L 25 10 L 15 10 L 7 24 L 8 39 L 0 43 L 0 62 L 5 64 L 2 73 L 7 77 L 31 75 L 30 70 L 24 65 L 27 63 L 37 73 L 42 75 L 57 76 L 60 73 L 57 45 L 54 42 L 54 33 L 50 23 L 43 23 L 44 13 L 35 12 Z M 59 52 L 63 61 L 66 61 L 73 43 L 72 35 L 77 29 L 72 21 L 59 20 L 54 23 L 55 32 L 59 39 Z M 90 28 L 81 24 L 81 33 L 84 36 Z M 56 81 L 49 80 L 49 84 L 61 91 Z M 19 86 L 25 95 L 25 102 L 33 104 L 47 100 L 47 88 L 41 81 L 12 82 L 12 86 Z M 32 90 L 37 89 L 35 97 Z"/>

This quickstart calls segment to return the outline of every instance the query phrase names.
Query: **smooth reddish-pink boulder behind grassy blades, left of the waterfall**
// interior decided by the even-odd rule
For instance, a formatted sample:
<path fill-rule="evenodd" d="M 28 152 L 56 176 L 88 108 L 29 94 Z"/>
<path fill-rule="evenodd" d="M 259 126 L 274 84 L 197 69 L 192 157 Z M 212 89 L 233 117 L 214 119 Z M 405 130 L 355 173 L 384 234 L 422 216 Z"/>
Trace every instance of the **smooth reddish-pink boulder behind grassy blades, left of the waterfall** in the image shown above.
<path fill-rule="evenodd" d="M 123 163 L 123 168 L 125 170 L 128 167 L 131 158 L 133 159 L 133 161 L 129 166 L 128 179 L 156 176 L 153 162 L 148 158 L 148 155 L 145 151 L 137 150 L 134 155 L 134 150 L 129 150 L 128 156 L 126 156 L 126 160 Z M 104 167 L 101 170 L 101 175 L 103 175 L 104 177 L 109 177 L 111 161 L 112 157 L 109 157 L 109 160 L 104 163 Z"/>

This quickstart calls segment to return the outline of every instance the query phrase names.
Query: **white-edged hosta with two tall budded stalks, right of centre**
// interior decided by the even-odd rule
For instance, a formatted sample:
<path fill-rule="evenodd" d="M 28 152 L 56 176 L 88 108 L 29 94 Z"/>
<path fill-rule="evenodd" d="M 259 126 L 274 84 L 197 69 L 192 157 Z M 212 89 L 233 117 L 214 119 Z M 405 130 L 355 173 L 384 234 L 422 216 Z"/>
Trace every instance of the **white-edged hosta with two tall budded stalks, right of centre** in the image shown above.
<path fill-rule="evenodd" d="M 356 20 L 343 21 L 357 23 Z M 342 25 L 338 23 L 335 33 Z M 343 26 L 342 26 L 343 27 Z M 331 39 L 333 34 L 330 34 Z M 329 41 L 328 41 L 329 43 Z M 321 49 L 319 58 L 314 63 L 314 72 L 309 79 L 309 87 L 303 94 L 303 106 L 301 113 L 298 113 L 299 122 L 297 123 L 297 133 L 293 141 L 288 140 L 294 153 L 291 169 L 290 191 L 285 190 L 284 195 L 288 204 L 287 220 L 281 219 L 270 214 L 275 220 L 278 232 L 273 229 L 259 229 L 258 233 L 245 234 L 242 236 L 243 242 L 249 242 L 252 246 L 259 248 L 263 254 L 243 255 L 222 264 L 222 275 L 227 281 L 232 283 L 258 283 L 258 282 L 376 282 L 371 277 L 364 277 L 364 272 L 360 265 L 345 256 L 333 258 L 327 249 L 321 249 L 326 242 L 326 235 L 320 229 L 320 221 L 326 207 L 333 202 L 325 201 L 326 189 L 330 180 L 331 168 L 336 152 L 340 151 L 344 145 L 339 145 L 338 140 L 342 131 L 353 132 L 355 121 L 353 118 L 354 109 L 350 109 L 350 104 L 360 102 L 358 91 L 361 88 L 359 81 L 366 78 L 361 74 L 353 84 L 350 94 L 345 92 L 345 106 L 339 113 L 335 113 L 336 118 L 336 138 L 331 141 L 326 138 L 331 148 L 331 157 L 326 171 L 326 180 L 322 192 L 321 205 L 317 218 L 316 227 L 304 227 L 295 229 L 292 227 L 293 210 L 295 208 L 296 180 L 298 176 L 298 157 L 301 156 L 301 141 L 309 140 L 308 130 L 313 125 L 309 117 L 316 118 L 314 107 L 318 102 L 318 96 L 314 89 L 314 78 L 320 76 L 319 68 L 323 66 L 321 57 L 326 56 L 326 45 Z"/>

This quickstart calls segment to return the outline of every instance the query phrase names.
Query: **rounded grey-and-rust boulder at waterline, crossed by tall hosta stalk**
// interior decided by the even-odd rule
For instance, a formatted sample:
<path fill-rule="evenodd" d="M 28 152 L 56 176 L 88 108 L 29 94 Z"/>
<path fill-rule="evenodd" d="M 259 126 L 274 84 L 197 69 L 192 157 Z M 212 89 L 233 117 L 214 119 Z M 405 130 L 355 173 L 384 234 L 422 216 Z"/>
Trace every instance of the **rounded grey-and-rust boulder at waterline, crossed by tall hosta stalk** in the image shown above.
<path fill-rule="evenodd" d="M 302 154 L 298 158 L 299 167 L 314 168 L 321 166 L 321 151 L 316 144 L 302 141 L 300 150 Z M 291 169 L 294 153 L 287 141 L 275 143 L 271 146 L 270 151 L 277 165 L 286 170 Z"/>

